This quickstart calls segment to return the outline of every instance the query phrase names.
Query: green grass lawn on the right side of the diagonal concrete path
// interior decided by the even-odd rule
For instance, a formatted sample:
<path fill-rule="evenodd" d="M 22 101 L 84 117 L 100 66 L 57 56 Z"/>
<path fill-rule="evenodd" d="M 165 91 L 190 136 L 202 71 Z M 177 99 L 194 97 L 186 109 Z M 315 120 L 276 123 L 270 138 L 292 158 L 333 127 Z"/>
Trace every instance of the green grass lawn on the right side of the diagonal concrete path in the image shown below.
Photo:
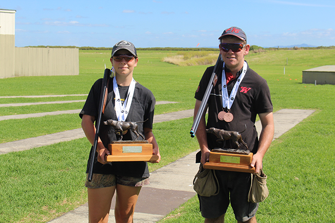
<path fill-rule="evenodd" d="M 259 206 L 258 222 L 335 222 L 335 86 L 302 84 L 302 70 L 333 65 L 334 56 L 334 50 L 287 50 L 246 58 L 266 78 L 275 111 L 316 110 L 276 139 L 266 153 L 270 195 Z M 198 210 L 195 196 L 159 222 L 203 222 Z M 235 222 L 231 208 L 226 222 Z"/>

